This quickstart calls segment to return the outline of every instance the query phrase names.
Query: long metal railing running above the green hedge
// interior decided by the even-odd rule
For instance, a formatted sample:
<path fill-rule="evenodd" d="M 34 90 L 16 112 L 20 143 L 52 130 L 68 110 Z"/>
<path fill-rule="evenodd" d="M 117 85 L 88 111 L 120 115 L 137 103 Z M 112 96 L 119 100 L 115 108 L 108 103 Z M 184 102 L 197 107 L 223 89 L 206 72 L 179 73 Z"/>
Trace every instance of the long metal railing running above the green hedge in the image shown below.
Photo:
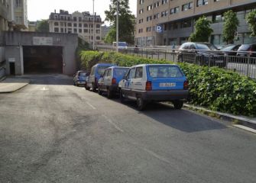
<path fill-rule="evenodd" d="M 115 51 L 111 46 L 97 46 L 105 52 Z M 256 52 L 223 52 L 220 50 L 178 50 L 163 48 L 128 47 L 120 53 L 148 59 L 164 59 L 174 63 L 193 63 L 199 66 L 217 66 L 256 79 Z"/>

